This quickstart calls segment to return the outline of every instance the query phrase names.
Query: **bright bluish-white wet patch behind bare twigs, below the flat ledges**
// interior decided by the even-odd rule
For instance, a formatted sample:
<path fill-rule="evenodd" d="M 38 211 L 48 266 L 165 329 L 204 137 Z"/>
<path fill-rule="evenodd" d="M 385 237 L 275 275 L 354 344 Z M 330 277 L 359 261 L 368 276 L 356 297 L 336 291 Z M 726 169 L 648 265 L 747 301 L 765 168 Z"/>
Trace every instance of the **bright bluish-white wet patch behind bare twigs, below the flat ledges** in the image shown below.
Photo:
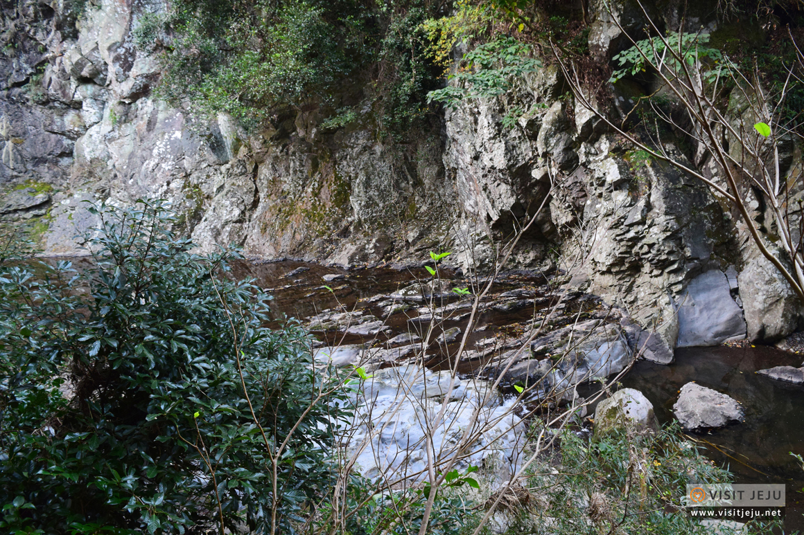
<path fill-rule="evenodd" d="M 433 415 L 448 393 L 444 418 L 435 425 Z M 477 441 L 467 450 L 472 453 L 461 461 L 461 467 L 479 466 L 488 458 L 511 473 L 519 464 L 524 424 L 511 411 L 515 400 L 503 400 L 486 381 L 453 379 L 449 372 L 398 366 L 373 371 L 355 398 L 366 401 L 359 404 L 355 418 L 362 423 L 348 435 L 344 446 L 347 455 L 355 455 L 355 467 L 370 479 L 385 474 L 424 480 L 428 430 L 436 450 L 449 451 L 479 406 L 483 410 L 474 428 L 484 431 L 478 432 Z"/>

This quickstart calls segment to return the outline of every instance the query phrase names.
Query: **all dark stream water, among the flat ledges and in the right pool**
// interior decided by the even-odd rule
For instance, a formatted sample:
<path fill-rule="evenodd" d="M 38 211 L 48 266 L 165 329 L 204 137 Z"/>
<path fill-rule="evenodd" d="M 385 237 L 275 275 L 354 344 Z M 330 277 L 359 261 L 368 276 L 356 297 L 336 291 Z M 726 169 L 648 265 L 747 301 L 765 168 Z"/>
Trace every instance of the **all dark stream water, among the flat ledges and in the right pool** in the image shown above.
<path fill-rule="evenodd" d="M 273 312 L 277 320 L 286 316 L 299 318 L 302 322 L 323 310 L 338 307 L 363 308 L 367 313 L 382 317 L 375 309 L 379 296 L 398 291 L 417 278 L 429 278 L 424 267 L 369 267 L 347 272 L 294 261 L 236 263 L 233 273 L 239 278 L 255 277 L 260 286 L 269 289 L 274 296 Z M 460 275 L 452 271 L 442 273 L 459 286 L 466 282 L 460 279 Z M 330 276 L 330 280 L 324 280 L 324 276 Z M 544 296 L 547 291 L 546 284 L 545 277 L 527 273 L 503 277 L 494 284 L 490 303 L 499 303 L 499 300 L 494 301 L 499 296 L 531 296 L 534 299 L 521 308 L 499 304 L 488 308 L 470 341 L 494 335 L 515 337 L 521 333 L 523 325 L 547 306 L 544 299 L 539 301 L 539 296 Z M 416 323 L 415 317 L 415 309 L 388 317 L 386 325 L 390 329 L 383 333 L 384 337 L 388 339 L 420 329 L 422 322 Z M 461 318 L 461 321 L 447 321 L 441 328 L 449 329 L 465 323 L 466 320 Z M 420 331 L 417 333 L 421 334 Z M 434 334 L 440 333 L 441 330 Z M 330 345 L 367 341 L 367 337 L 358 334 L 325 331 L 316 334 Z M 672 406 L 678 398 L 678 391 L 691 381 L 724 392 L 742 403 L 745 407 L 744 423 L 689 436 L 704 447 L 710 459 L 727 465 L 734 473 L 736 483 L 786 483 L 786 529 L 804 531 L 804 468 L 790 455 L 790 451 L 804 455 L 804 387 L 756 374 L 757 370 L 773 366 L 802 366 L 804 356 L 766 346 L 687 348 L 678 349 L 675 356 L 675 363 L 670 366 L 638 361 L 622 380 L 623 386 L 641 390 L 654 404 L 660 423 L 673 419 Z M 428 362 L 434 370 L 442 365 L 440 361 Z"/>

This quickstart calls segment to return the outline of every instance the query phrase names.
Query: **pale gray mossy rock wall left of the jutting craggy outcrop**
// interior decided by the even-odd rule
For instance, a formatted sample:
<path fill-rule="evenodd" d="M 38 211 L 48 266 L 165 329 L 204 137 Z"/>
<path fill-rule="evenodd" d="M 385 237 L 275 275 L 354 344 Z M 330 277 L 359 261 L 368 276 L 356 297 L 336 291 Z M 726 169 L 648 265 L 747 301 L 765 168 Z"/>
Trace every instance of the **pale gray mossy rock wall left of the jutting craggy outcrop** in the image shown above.
<path fill-rule="evenodd" d="M 77 22 L 70 6 L 4 12 L 25 31 L 0 57 L 0 195 L 47 190 L 35 236 L 45 254 L 80 250 L 76 231 L 93 225 L 83 201 L 141 197 L 170 200 L 202 251 L 235 243 L 260 257 L 359 263 L 447 239 L 454 195 L 438 127 L 402 146 L 377 141 L 371 109 L 332 132 L 315 109 L 248 135 L 225 115 L 187 117 L 154 98 L 161 67 L 133 43 L 163 3 L 88 2 Z"/>

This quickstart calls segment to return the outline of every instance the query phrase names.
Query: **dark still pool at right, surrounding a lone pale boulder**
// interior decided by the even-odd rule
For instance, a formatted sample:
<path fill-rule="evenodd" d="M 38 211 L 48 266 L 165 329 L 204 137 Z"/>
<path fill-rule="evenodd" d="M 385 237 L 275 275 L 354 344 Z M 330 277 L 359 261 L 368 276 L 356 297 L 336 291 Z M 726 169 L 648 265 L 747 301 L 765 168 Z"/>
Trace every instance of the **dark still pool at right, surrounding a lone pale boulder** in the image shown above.
<path fill-rule="evenodd" d="M 802 366 L 802 360 L 802 355 L 759 345 L 677 349 L 671 366 L 639 361 L 622 383 L 650 399 L 661 423 L 673 419 L 679 389 L 691 381 L 742 403 L 745 422 L 690 437 L 707 448 L 710 459 L 728 466 L 736 483 L 785 483 L 786 529 L 804 532 L 804 469 L 790 455 L 804 455 L 804 386 L 756 373 Z"/>

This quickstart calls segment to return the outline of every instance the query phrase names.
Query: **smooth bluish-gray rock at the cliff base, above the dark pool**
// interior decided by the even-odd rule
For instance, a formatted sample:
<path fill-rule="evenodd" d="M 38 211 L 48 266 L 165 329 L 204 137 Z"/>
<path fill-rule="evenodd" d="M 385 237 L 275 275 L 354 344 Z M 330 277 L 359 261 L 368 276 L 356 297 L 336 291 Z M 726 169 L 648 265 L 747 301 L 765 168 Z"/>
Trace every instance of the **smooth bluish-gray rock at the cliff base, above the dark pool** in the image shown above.
<path fill-rule="evenodd" d="M 719 269 L 691 280 L 679 305 L 676 347 L 720 345 L 745 337 L 743 311 L 732 299 L 728 278 Z"/>

